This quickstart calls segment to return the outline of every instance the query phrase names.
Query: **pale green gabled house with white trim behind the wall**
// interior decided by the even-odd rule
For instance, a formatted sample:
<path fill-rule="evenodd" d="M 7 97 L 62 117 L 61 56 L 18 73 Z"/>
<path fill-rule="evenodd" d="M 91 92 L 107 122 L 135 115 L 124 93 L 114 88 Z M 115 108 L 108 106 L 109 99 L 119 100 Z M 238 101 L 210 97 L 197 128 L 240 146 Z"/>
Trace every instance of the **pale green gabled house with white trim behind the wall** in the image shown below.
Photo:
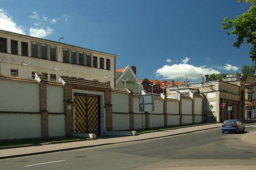
<path fill-rule="evenodd" d="M 125 89 L 130 88 L 133 91 L 143 89 L 140 80 L 136 76 L 136 66 L 126 66 L 116 70 L 116 88 Z"/>

